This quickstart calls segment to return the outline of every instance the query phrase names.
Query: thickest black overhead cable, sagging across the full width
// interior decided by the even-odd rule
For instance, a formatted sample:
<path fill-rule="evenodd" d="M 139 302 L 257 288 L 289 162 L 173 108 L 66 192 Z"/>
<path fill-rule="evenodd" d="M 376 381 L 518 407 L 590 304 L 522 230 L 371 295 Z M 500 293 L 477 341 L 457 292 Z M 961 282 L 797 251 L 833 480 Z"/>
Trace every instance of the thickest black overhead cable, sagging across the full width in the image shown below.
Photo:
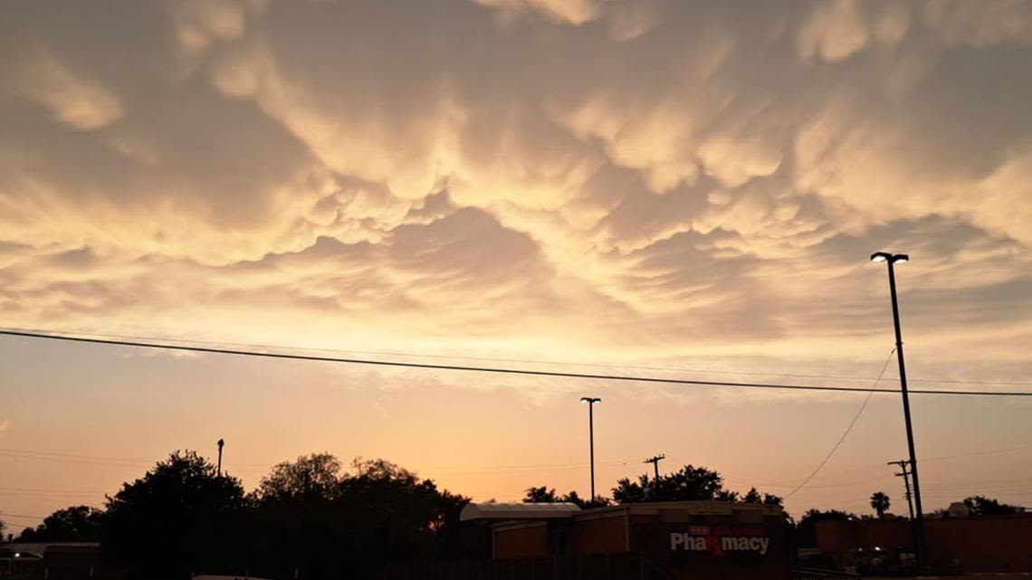
<path fill-rule="evenodd" d="M 729 381 L 701 381 L 689 379 L 668 379 L 663 377 L 627 377 L 619 375 L 602 375 L 591 373 L 563 373 L 557 370 L 536 370 L 528 368 L 505 368 L 496 366 L 466 366 L 460 364 L 433 364 L 427 362 L 406 362 L 399 360 L 373 360 L 362 358 L 346 358 L 333 356 L 315 356 L 303 354 L 261 352 L 243 349 L 225 349 L 214 347 L 193 347 L 185 345 L 167 345 L 154 342 L 140 341 L 118 341 L 107 339 L 88 339 L 83 336 L 67 336 L 63 334 L 47 334 L 43 332 L 25 332 L 20 330 L 0 330 L 0 334 L 8 336 L 23 336 L 29 339 L 45 339 L 52 341 L 65 341 L 73 343 L 88 343 L 95 345 L 108 345 L 121 347 L 136 347 L 148 349 L 162 349 L 170 351 L 185 351 L 207 354 L 229 354 L 237 356 L 254 356 L 263 358 L 277 358 L 288 360 L 309 360 L 318 362 L 340 362 L 345 364 L 364 364 L 372 366 L 393 366 L 400 368 L 422 368 L 432 370 L 457 370 L 469 373 L 494 373 L 501 375 L 522 375 L 531 377 L 553 377 L 565 379 L 587 379 L 601 381 L 623 381 L 632 383 L 658 383 L 668 385 L 692 385 L 712 387 L 736 387 L 749 389 L 782 389 L 802 391 L 836 391 L 836 392 L 862 392 L 870 393 L 871 388 L 865 387 L 839 387 L 839 386 L 814 386 L 814 385 L 791 385 L 774 383 L 736 383 Z M 893 393 L 895 390 L 879 390 L 879 393 Z M 969 396 L 1028 396 L 1032 397 L 1032 392 L 1024 391 L 968 391 L 968 390 L 939 390 L 939 389 L 911 389 L 911 394 L 942 394 L 942 395 L 969 395 Z"/>

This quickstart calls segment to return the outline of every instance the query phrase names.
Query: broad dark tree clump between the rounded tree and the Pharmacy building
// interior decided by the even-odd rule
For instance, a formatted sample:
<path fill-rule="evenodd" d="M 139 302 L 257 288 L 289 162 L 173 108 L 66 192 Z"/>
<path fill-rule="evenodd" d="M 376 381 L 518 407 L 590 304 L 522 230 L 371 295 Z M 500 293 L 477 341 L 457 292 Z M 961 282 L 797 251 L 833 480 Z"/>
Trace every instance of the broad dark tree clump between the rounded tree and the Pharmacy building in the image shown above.
<path fill-rule="evenodd" d="M 389 560 L 490 553 L 458 525 L 470 500 L 383 459 L 356 459 L 352 473 L 329 454 L 280 463 L 253 497 L 253 570 L 269 577 L 375 577 Z M 489 536 L 487 536 L 489 538 Z"/>

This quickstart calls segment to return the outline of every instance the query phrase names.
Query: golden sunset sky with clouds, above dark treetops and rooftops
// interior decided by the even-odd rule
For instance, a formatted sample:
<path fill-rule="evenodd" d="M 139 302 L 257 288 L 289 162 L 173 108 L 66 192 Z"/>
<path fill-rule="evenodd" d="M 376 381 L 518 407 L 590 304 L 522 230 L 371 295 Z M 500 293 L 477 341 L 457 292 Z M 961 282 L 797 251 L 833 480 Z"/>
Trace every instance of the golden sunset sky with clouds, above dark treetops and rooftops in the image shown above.
<path fill-rule="evenodd" d="M 15 2 L 0 326 L 617 376 L 1032 390 L 1027 2 Z M 319 350 L 316 350 L 319 349 Z M 888 362 L 888 364 L 886 364 Z M 18 531 L 176 449 L 477 501 L 684 464 L 792 492 L 867 397 L 0 336 Z M 1032 400 L 913 395 L 926 511 L 1032 506 Z M 898 394 L 785 502 L 905 513 Z"/>

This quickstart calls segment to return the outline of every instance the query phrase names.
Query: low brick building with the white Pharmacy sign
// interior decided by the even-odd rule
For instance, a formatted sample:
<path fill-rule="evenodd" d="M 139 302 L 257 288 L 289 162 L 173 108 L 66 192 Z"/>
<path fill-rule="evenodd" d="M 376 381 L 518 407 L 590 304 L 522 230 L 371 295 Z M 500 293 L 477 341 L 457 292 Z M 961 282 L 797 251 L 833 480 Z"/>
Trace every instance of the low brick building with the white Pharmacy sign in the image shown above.
<path fill-rule="evenodd" d="M 493 522 L 494 563 L 488 568 L 502 566 L 506 578 L 788 576 L 777 506 L 662 502 L 580 510 L 572 504 L 471 504 L 462 519 Z M 481 571 L 478 577 L 501 578 L 503 573 L 484 576 Z"/>

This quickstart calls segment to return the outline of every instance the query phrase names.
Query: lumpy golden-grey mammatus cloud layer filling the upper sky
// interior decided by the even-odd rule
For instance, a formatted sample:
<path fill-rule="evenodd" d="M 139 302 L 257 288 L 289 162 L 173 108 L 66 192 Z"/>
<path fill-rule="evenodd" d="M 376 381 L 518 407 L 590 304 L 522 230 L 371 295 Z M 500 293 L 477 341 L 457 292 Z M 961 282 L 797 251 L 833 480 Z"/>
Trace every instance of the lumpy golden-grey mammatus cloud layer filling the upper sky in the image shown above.
<path fill-rule="evenodd" d="M 1018 360 L 1026 12 L 224 1 L 134 6 L 120 36 L 20 6 L 0 314 L 807 364 L 884 330 L 865 257 L 890 248 L 930 356 L 973 334 Z"/>

